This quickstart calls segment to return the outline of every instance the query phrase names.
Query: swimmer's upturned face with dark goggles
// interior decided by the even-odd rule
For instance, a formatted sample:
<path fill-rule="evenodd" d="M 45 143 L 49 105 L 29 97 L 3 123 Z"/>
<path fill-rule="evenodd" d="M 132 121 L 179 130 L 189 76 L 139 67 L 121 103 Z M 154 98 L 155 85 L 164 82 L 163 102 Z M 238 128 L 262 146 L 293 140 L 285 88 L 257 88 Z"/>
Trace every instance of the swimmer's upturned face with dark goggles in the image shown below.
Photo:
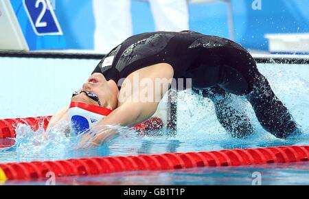
<path fill-rule="evenodd" d="M 108 95 L 111 93 L 109 91 L 110 88 L 108 86 L 108 81 L 101 73 L 93 73 L 93 75 L 91 75 L 82 85 L 81 90 L 97 94 L 100 102 L 103 104 L 108 100 Z M 80 93 L 79 95 L 72 97 L 71 102 L 84 102 L 98 106 L 98 102 L 91 100 L 91 98 L 87 97 L 86 93 Z"/>

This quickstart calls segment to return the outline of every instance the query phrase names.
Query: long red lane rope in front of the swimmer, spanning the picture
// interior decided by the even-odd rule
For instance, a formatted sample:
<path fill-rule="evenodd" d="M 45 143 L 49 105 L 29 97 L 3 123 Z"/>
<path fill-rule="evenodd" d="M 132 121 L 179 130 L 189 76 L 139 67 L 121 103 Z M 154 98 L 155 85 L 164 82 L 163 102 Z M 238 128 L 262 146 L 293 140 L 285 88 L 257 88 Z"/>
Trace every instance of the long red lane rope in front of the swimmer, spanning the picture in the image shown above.
<path fill-rule="evenodd" d="M 0 180 L 45 178 L 47 172 L 62 176 L 89 176 L 135 170 L 168 170 L 193 167 L 227 167 L 308 161 L 309 146 L 273 147 L 216 152 L 189 152 L 115 156 L 67 161 L 0 164 Z"/>

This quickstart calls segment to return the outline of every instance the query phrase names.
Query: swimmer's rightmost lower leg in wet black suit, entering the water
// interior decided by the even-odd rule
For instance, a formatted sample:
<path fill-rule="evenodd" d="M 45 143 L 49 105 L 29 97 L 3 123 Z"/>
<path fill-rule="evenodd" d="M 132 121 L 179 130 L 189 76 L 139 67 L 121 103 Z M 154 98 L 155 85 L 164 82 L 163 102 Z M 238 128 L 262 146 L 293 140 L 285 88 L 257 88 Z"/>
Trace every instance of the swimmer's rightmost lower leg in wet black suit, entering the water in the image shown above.
<path fill-rule="evenodd" d="M 275 137 L 285 139 L 300 133 L 292 115 L 261 73 L 255 74 L 253 91 L 247 95 L 247 100 L 263 128 Z"/>

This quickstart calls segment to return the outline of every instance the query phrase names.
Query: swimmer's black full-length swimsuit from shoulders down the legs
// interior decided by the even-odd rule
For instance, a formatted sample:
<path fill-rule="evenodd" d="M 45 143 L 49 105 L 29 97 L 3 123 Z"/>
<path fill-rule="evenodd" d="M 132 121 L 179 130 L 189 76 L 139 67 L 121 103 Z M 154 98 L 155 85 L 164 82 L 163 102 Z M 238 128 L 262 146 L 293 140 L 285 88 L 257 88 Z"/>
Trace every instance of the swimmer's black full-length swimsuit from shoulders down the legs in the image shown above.
<path fill-rule="evenodd" d="M 226 38 L 191 31 L 131 36 L 108 53 L 93 73 L 102 73 L 106 80 L 117 83 L 134 71 L 159 63 L 170 64 L 176 79 L 191 78 L 193 89 L 213 100 L 218 119 L 226 129 L 246 129 L 229 128 L 231 122 L 223 121 L 227 115 L 222 110 L 228 107 L 216 98 L 221 95 L 225 99 L 226 93 L 233 93 L 247 97 L 262 126 L 276 137 L 288 137 L 297 130 L 249 52 Z"/>

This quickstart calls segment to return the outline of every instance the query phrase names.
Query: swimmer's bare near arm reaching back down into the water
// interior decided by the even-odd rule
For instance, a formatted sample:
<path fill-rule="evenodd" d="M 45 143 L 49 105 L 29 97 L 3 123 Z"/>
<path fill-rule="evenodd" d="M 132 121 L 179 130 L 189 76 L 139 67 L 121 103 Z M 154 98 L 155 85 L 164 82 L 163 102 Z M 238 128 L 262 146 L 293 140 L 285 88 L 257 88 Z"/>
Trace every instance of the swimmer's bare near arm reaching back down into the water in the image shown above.
<path fill-rule="evenodd" d="M 132 90 L 133 86 L 131 86 L 133 85 L 133 75 L 129 75 L 124 81 L 122 90 L 119 93 L 119 107 L 104 120 L 100 121 L 98 126 L 119 125 L 131 128 L 143 121 L 146 121 L 155 114 L 159 102 L 170 88 L 170 84 L 172 83 L 172 78 L 174 76 L 174 70 L 172 69 L 172 66 L 167 64 L 154 65 L 146 70 L 148 70 L 146 71 L 146 74 L 145 71 L 139 72 L 140 78 L 146 78 L 146 80 L 151 80 L 152 82 L 156 82 L 158 79 L 163 80 L 161 85 L 158 86 L 159 89 L 152 88 L 154 89 L 152 90 L 147 86 L 139 85 L 139 89 L 134 91 Z M 148 91 L 153 91 L 153 93 L 149 93 Z M 132 95 L 125 95 L 126 97 L 124 98 L 120 97 L 124 93 L 132 93 Z M 134 97 L 148 96 L 146 95 L 147 93 L 148 95 L 154 97 L 150 102 L 148 102 L 148 100 L 144 102 L 145 99 L 136 99 Z M 117 132 L 115 132 L 115 130 L 104 130 L 104 132 L 98 134 L 92 142 L 95 145 L 100 145 L 104 141 L 111 139 L 116 135 Z"/>

